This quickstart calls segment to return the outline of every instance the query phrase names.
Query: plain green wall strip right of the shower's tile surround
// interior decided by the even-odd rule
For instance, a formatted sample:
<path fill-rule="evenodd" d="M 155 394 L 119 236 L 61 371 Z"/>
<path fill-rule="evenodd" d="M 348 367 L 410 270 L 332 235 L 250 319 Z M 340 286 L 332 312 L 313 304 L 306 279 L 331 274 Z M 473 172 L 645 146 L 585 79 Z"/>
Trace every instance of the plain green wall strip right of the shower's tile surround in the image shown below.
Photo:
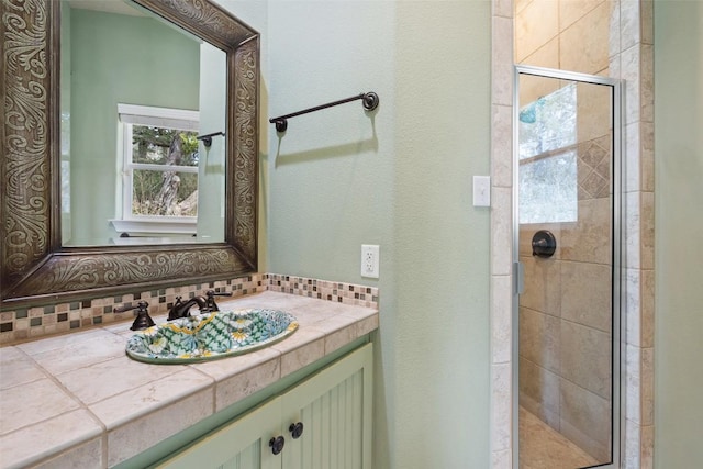
<path fill-rule="evenodd" d="M 703 467 L 703 3 L 655 1 L 655 467 Z"/>

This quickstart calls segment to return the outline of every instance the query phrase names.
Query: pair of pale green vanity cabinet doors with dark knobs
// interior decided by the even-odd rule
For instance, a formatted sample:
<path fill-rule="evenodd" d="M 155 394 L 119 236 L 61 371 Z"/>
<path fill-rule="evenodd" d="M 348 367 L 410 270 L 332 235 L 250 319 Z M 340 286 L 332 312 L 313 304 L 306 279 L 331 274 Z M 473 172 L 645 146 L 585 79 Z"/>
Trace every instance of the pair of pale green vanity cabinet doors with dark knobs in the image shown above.
<path fill-rule="evenodd" d="M 370 469 L 371 392 L 367 344 L 157 467 Z"/>

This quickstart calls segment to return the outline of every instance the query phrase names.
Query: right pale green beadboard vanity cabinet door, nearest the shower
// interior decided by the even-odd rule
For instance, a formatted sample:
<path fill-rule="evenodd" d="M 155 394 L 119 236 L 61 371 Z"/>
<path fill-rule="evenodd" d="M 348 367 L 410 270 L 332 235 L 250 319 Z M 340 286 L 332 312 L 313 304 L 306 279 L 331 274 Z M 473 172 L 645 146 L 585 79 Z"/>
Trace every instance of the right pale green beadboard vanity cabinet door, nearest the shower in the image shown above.
<path fill-rule="evenodd" d="M 283 469 L 371 468 L 371 370 L 368 344 L 281 397 Z"/>

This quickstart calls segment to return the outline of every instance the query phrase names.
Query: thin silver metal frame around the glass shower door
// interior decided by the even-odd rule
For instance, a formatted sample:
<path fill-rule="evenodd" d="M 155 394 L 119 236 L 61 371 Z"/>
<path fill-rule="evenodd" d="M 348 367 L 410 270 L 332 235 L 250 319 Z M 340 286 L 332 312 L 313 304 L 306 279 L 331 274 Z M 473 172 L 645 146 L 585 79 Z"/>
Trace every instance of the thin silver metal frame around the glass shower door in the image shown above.
<path fill-rule="evenodd" d="M 622 314 L 624 311 L 621 308 L 623 299 L 621 298 L 622 289 L 622 258 L 623 252 L 623 237 L 622 237 L 622 190 L 623 190 L 623 171 L 622 171 L 622 142 L 623 142 L 623 80 L 616 78 L 601 77 L 596 75 L 580 74 L 576 71 L 558 70 L 553 68 L 535 67 L 527 65 L 514 65 L 513 67 L 513 188 L 512 188 L 512 203 L 513 203 L 513 301 L 512 301 L 512 466 L 513 469 L 520 469 L 520 294 L 523 290 L 523 268 L 520 263 L 520 213 L 518 213 L 518 193 L 520 193 L 520 76 L 532 75 L 544 78 L 555 78 L 561 80 L 570 80 L 582 83 L 610 86 L 613 90 L 612 96 L 612 112 L 613 112 L 613 212 L 612 212 L 612 416 L 611 416 L 611 432 L 612 432 L 612 461 L 610 464 L 596 466 L 603 469 L 616 469 L 622 466 L 622 448 L 624 444 L 624 425 L 625 416 L 621 413 L 621 409 L 624 409 L 624 395 L 621 390 L 625 389 L 623 382 L 622 369 L 625 368 L 622 362 L 621 347 L 625 343 L 625 338 L 622 336 L 625 328 L 625 317 Z"/>

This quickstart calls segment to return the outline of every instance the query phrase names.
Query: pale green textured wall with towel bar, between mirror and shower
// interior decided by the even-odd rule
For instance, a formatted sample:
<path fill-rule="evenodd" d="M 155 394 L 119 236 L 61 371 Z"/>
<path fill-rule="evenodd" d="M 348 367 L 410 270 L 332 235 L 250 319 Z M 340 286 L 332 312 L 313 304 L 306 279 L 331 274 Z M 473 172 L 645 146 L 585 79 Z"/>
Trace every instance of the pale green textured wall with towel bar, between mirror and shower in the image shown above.
<path fill-rule="evenodd" d="M 379 287 L 379 468 L 489 466 L 490 3 L 271 2 L 269 269 Z M 380 280 L 359 277 L 380 245 Z"/>

